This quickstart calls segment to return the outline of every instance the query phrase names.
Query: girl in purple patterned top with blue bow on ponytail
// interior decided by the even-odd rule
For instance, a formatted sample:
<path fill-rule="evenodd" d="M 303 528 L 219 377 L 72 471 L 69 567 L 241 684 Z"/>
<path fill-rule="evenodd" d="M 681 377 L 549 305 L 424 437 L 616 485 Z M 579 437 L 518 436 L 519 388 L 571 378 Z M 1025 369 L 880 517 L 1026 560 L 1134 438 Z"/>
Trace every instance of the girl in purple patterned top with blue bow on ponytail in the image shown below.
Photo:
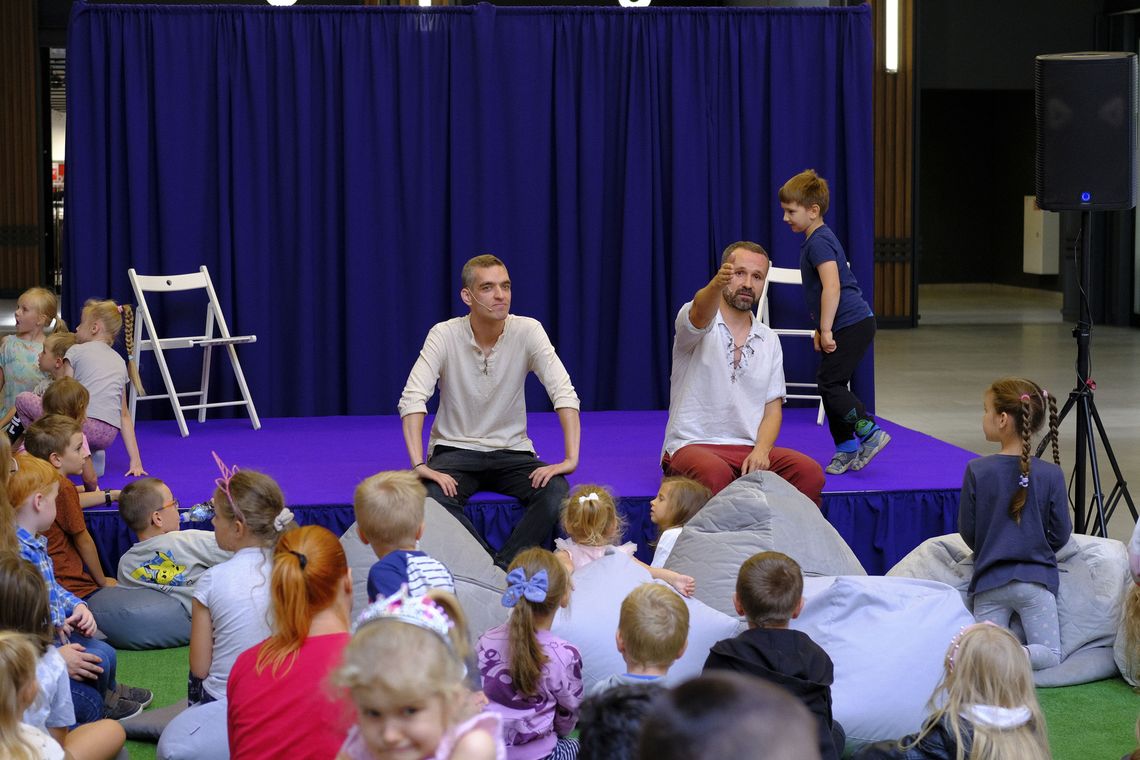
<path fill-rule="evenodd" d="M 503 606 L 511 616 L 479 639 L 477 654 L 488 710 L 503 718 L 508 760 L 572 759 L 568 738 L 583 700 L 581 655 L 551 634 L 570 603 L 570 575 L 545 549 L 527 549 L 511 563 Z"/>

